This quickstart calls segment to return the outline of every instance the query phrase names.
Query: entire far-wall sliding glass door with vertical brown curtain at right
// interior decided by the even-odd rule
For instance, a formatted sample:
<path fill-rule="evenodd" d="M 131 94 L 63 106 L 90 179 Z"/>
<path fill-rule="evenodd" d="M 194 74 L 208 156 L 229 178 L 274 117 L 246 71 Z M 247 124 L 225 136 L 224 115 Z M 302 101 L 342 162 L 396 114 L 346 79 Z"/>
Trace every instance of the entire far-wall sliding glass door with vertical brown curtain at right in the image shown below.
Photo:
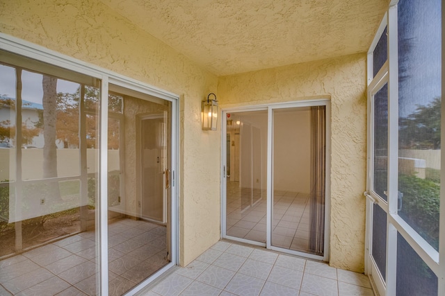
<path fill-rule="evenodd" d="M 327 101 L 227 110 L 223 237 L 327 260 Z"/>

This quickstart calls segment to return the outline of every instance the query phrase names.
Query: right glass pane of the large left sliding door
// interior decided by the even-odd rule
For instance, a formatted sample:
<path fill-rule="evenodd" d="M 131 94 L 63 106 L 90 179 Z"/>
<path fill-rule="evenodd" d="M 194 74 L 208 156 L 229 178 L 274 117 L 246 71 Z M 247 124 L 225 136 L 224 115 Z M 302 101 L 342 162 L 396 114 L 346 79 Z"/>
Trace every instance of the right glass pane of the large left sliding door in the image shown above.
<path fill-rule="evenodd" d="M 145 97 L 108 96 L 111 295 L 122 295 L 170 262 L 171 109 L 167 101 Z"/>

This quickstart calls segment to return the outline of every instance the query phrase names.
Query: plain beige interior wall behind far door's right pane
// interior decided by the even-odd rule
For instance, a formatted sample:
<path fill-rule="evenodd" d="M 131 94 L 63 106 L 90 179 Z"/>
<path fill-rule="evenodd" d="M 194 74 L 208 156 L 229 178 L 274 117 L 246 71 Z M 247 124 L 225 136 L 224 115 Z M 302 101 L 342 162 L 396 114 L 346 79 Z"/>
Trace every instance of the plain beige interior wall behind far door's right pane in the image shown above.
<path fill-rule="evenodd" d="M 273 126 L 273 189 L 309 193 L 309 110 L 280 112 L 274 116 Z"/>

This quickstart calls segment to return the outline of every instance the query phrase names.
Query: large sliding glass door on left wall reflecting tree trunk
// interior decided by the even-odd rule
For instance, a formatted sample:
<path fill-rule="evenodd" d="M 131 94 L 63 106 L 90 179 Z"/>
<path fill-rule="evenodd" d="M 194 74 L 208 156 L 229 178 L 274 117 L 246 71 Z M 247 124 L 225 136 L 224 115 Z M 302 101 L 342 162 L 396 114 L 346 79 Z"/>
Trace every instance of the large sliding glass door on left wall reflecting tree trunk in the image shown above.
<path fill-rule="evenodd" d="M 177 101 L 62 66 L 0 51 L 0 294 L 136 293 L 177 263 Z"/>

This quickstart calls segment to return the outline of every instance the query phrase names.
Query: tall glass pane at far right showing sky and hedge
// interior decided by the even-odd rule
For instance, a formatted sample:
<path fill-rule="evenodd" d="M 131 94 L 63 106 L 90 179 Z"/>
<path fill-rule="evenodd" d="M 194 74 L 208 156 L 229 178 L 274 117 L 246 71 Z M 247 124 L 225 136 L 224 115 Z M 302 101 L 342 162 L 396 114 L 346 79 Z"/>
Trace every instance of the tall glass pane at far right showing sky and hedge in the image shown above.
<path fill-rule="evenodd" d="M 398 214 L 438 250 L 441 1 L 398 4 Z"/>

